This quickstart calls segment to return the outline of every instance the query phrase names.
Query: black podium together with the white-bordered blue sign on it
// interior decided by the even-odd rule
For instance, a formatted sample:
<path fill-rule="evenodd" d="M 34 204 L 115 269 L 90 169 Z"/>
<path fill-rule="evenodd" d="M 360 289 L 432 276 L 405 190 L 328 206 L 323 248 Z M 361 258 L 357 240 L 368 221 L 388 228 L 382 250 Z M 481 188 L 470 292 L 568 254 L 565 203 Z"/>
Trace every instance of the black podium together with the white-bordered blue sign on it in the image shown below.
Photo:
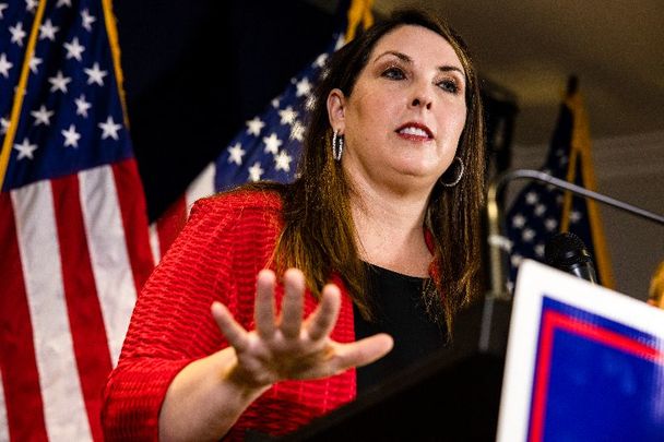
<path fill-rule="evenodd" d="M 471 306 L 453 336 L 277 440 L 663 440 L 664 310 L 526 260 L 513 301 Z"/>

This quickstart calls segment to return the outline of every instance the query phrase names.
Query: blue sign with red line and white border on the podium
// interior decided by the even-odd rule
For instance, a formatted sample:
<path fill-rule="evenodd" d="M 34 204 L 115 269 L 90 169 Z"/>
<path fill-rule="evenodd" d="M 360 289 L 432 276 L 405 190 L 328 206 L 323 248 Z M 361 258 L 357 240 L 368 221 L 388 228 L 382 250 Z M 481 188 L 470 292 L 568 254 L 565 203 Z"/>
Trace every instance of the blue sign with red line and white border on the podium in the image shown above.
<path fill-rule="evenodd" d="M 524 261 L 497 441 L 664 441 L 664 311 Z"/>

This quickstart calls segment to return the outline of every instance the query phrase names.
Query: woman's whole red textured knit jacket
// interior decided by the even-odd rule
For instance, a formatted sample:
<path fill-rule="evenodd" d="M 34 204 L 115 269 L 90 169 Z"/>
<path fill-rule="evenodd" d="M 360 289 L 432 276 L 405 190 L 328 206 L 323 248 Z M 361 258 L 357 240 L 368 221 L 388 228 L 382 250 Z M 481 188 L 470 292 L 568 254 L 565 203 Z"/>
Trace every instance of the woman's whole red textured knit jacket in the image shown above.
<path fill-rule="evenodd" d="M 223 302 L 246 328 L 253 328 L 256 277 L 268 265 L 283 228 L 276 193 L 236 192 L 197 202 L 187 226 L 145 284 L 116 369 L 104 392 L 107 440 L 156 440 L 158 414 L 174 377 L 188 363 L 227 346 L 212 315 Z M 343 283 L 342 307 L 332 338 L 355 339 L 353 304 Z M 277 288 L 281 304 L 283 287 Z M 317 301 L 305 296 L 305 314 Z M 355 370 L 315 381 L 273 385 L 228 433 L 247 429 L 283 435 L 356 394 Z"/>

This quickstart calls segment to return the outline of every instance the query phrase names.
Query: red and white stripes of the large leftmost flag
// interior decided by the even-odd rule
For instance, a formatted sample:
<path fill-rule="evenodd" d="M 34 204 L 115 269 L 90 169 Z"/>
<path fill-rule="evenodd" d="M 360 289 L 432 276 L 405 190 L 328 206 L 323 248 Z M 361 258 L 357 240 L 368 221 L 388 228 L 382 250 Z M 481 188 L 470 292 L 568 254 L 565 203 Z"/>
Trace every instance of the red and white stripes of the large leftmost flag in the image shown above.
<path fill-rule="evenodd" d="M 0 440 L 103 440 L 102 389 L 152 270 L 142 194 L 133 159 L 0 194 Z"/>

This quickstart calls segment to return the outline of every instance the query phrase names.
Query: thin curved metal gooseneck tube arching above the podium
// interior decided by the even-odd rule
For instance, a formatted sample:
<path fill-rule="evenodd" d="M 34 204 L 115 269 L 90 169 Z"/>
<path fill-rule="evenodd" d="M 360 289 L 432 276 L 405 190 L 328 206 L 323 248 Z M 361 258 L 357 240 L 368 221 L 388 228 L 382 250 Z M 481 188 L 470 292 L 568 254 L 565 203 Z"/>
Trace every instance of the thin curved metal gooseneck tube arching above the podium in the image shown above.
<path fill-rule="evenodd" d="M 502 232 L 502 219 L 500 207 L 498 206 L 498 194 L 502 189 L 513 180 L 530 179 L 542 181 L 546 184 L 554 186 L 559 189 L 567 190 L 576 195 L 598 201 L 612 207 L 621 210 L 631 215 L 645 218 L 656 224 L 664 226 L 664 216 L 653 212 L 645 211 L 624 201 L 597 193 L 585 189 L 581 186 L 569 181 L 561 180 L 540 170 L 532 169 L 515 169 L 503 172 L 496 177 L 490 183 L 487 192 L 487 220 L 488 220 L 488 238 L 489 246 L 489 273 L 490 273 L 490 291 L 491 298 L 509 299 L 511 295 L 507 290 L 507 278 L 505 274 L 506 252 L 509 252 L 510 241 Z"/>

